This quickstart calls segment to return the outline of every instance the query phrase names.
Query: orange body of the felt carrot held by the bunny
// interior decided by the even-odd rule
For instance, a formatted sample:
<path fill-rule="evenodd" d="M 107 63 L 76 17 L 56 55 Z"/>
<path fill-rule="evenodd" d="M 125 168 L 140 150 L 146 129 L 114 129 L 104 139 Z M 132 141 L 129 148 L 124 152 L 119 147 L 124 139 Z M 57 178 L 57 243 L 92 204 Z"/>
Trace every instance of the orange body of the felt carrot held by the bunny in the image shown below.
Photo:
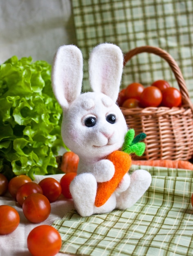
<path fill-rule="evenodd" d="M 102 206 L 112 195 L 117 188 L 123 176 L 129 171 L 131 166 L 131 157 L 123 151 L 116 150 L 112 152 L 106 159 L 114 164 L 114 176 L 107 182 L 100 182 L 97 184 L 95 206 Z"/>

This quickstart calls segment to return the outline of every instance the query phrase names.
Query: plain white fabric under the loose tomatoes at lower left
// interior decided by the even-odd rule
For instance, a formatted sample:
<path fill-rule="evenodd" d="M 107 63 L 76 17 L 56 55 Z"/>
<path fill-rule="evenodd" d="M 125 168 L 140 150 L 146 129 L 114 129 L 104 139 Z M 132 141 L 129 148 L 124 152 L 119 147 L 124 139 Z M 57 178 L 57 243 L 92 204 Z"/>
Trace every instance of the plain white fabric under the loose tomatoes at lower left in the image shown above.
<path fill-rule="evenodd" d="M 48 175 L 47 177 L 54 177 L 56 180 L 60 181 L 63 174 Z M 43 175 L 36 175 L 35 182 L 40 182 L 45 178 Z M 59 198 L 56 202 L 51 203 L 51 213 L 47 220 L 40 223 L 29 222 L 24 214 L 22 213 L 22 208 L 19 204 L 14 201 L 9 193 L 4 196 L 0 196 L 0 205 L 7 204 L 14 207 L 20 215 L 20 224 L 15 231 L 8 235 L 0 235 L 0 255 L 1 256 L 30 256 L 27 249 L 27 236 L 29 232 L 39 225 L 51 225 L 54 220 L 61 219 L 68 211 L 74 209 L 74 203 L 72 200 L 66 200 L 63 196 Z M 65 256 L 67 254 L 58 253 L 57 256 Z"/>

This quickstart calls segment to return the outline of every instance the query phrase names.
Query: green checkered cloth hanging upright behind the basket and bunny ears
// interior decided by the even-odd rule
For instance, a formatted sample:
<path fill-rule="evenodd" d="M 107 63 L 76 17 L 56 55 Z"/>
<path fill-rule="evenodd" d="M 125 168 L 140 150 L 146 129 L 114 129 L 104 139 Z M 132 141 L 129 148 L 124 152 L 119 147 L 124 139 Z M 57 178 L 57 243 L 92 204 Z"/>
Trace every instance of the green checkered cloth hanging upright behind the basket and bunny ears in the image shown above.
<path fill-rule="evenodd" d="M 91 49 L 110 42 L 123 52 L 143 46 L 160 47 L 179 65 L 193 100 L 192 0 L 72 0 L 77 46 L 83 52 L 85 90 Z M 138 54 L 124 68 L 121 87 L 132 82 L 145 86 L 165 79 L 178 88 L 168 63 L 154 54 Z"/>

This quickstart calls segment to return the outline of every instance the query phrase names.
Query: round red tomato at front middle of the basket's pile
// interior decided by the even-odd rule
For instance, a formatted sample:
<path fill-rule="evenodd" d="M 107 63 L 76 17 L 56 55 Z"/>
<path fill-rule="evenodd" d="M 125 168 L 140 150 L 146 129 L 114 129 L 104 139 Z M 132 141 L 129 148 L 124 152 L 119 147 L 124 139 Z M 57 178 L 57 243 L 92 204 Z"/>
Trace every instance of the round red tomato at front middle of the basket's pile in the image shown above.
<path fill-rule="evenodd" d="M 146 107 L 158 107 L 162 102 L 162 92 L 155 86 L 149 86 L 141 93 L 140 103 Z"/>

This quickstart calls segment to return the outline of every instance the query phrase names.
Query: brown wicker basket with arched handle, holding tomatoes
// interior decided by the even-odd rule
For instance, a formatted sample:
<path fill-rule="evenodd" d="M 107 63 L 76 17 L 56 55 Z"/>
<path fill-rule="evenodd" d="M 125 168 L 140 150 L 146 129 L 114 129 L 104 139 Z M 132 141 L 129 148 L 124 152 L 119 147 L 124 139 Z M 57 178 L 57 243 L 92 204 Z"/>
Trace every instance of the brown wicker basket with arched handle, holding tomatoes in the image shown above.
<path fill-rule="evenodd" d="M 182 94 L 182 107 L 121 108 L 130 128 L 136 135 L 145 132 L 146 150 L 134 159 L 188 160 L 193 155 L 193 104 L 182 72 L 175 60 L 163 49 L 142 46 L 124 56 L 124 65 L 136 54 L 153 53 L 166 60 L 173 71 Z"/>

